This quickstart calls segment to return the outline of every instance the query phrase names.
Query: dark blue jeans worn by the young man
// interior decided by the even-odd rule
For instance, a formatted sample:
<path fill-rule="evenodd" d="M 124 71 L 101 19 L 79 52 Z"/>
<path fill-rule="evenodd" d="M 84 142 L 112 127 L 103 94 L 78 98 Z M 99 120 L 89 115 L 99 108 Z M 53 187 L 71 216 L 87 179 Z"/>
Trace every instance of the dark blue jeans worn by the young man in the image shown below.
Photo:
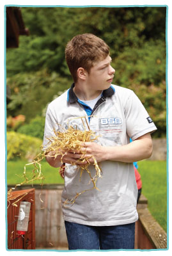
<path fill-rule="evenodd" d="M 65 221 L 69 250 L 134 249 L 135 223 L 88 226 Z"/>

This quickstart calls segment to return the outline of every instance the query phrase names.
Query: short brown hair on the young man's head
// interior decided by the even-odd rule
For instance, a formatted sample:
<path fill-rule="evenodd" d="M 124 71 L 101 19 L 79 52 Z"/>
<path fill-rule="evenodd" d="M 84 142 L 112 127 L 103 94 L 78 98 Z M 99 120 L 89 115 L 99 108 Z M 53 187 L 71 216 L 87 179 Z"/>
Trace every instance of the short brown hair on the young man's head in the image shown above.
<path fill-rule="evenodd" d="M 76 35 L 68 42 L 65 58 L 70 73 L 77 81 L 77 69 L 84 68 L 88 73 L 96 61 L 104 60 L 109 55 L 109 46 L 93 34 Z"/>

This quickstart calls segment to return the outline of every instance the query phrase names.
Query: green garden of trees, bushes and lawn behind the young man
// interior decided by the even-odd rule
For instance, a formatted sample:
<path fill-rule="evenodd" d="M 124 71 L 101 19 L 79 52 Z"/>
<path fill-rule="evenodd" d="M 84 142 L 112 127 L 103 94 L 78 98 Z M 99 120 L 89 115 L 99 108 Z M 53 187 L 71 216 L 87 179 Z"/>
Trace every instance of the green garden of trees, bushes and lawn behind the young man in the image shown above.
<path fill-rule="evenodd" d="M 113 83 L 134 90 L 166 138 L 166 8 L 22 7 L 29 36 L 6 51 L 7 183 L 22 182 L 24 165 L 42 145 L 45 112 L 72 78 L 65 45 L 79 33 L 93 33 L 111 49 Z M 160 225 L 166 227 L 166 161 L 138 163 L 143 194 Z M 42 163 L 44 183 L 63 183 L 58 170 Z"/>

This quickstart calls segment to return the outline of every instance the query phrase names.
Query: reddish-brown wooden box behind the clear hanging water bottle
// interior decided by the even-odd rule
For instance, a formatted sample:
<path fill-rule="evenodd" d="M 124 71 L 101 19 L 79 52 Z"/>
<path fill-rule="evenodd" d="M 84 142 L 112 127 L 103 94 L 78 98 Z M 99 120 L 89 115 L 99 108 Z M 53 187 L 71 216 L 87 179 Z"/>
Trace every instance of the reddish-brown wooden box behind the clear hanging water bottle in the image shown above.
<path fill-rule="evenodd" d="M 17 236 L 20 202 L 23 201 L 31 203 L 28 229 L 25 235 Z M 35 189 L 12 191 L 7 207 L 8 249 L 35 249 Z"/>

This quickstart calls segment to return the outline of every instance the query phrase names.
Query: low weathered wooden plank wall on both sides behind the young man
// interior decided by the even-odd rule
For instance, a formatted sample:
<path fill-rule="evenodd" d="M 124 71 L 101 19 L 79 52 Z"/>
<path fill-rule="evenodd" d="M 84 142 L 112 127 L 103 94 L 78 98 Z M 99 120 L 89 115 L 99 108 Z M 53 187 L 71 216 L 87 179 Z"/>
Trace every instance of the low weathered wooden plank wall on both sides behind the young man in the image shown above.
<path fill-rule="evenodd" d="M 68 250 L 60 203 L 63 185 L 46 185 L 43 189 L 34 185 L 34 188 L 36 249 Z M 137 212 L 139 220 L 136 222 L 135 249 L 166 249 L 167 234 L 150 214 L 148 200 L 143 195 Z"/>

